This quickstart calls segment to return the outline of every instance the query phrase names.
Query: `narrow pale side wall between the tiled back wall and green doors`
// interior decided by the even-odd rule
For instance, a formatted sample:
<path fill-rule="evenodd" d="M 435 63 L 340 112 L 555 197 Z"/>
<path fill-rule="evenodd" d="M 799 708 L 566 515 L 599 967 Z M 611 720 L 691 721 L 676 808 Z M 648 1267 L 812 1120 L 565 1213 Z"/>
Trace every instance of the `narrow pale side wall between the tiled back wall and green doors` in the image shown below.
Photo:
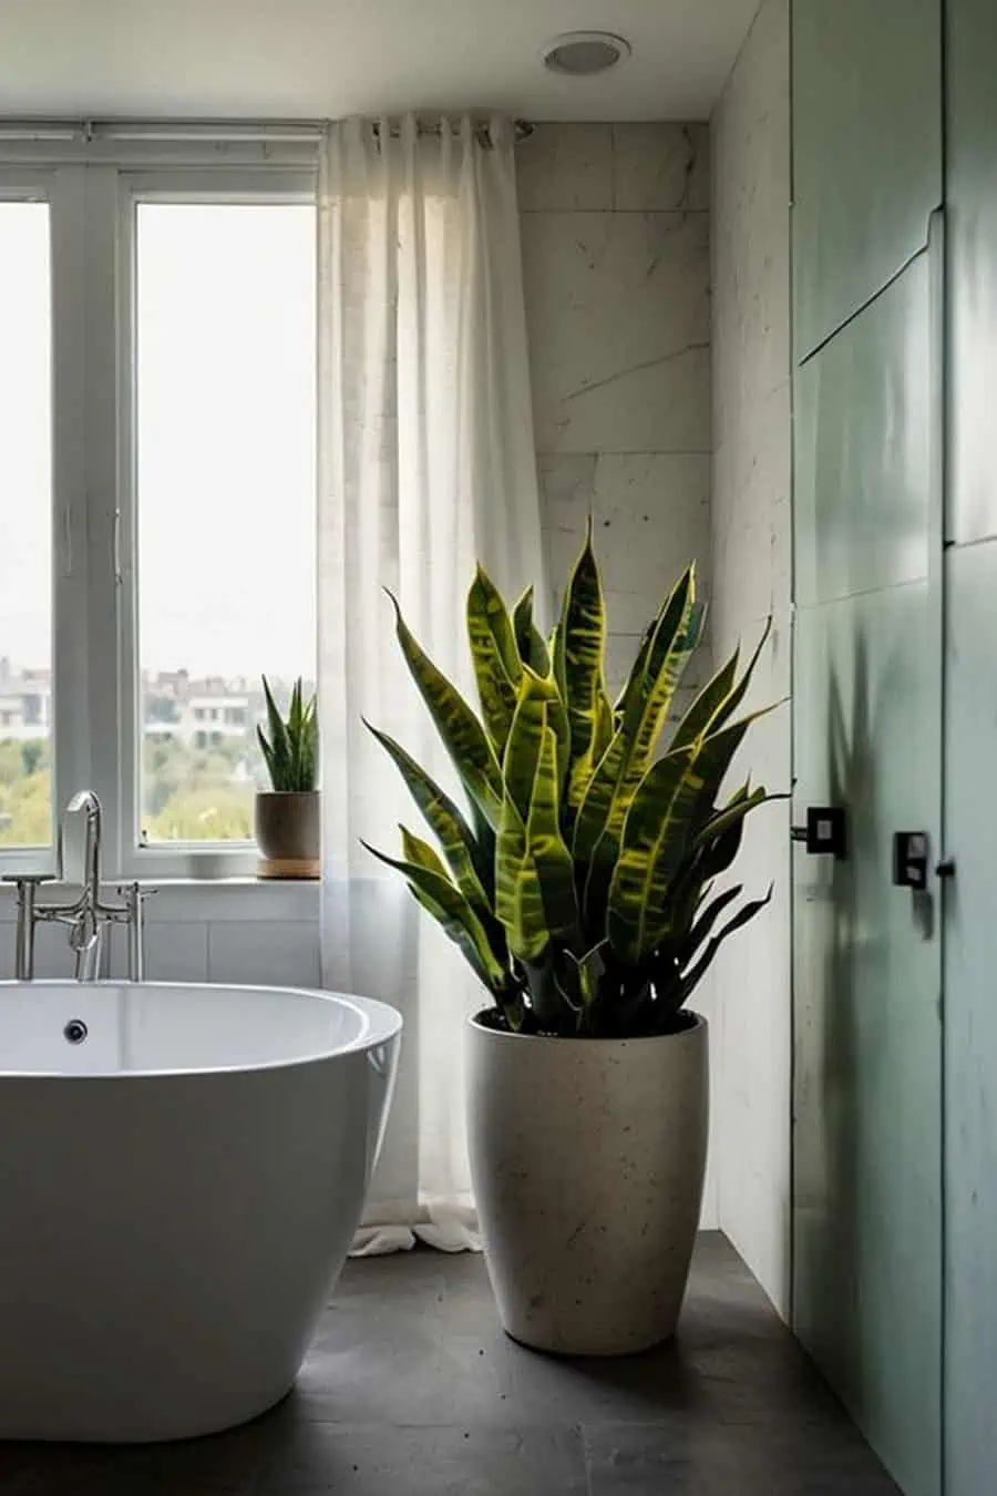
<path fill-rule="evenodd" d="M 773 615 L 755 705 L 789 694 L 789 0 L 764 0 L 712 120 L 713 651 Z M 741 773 L 789 790 L 789 709 L 750 732 Z M 789 1310 L 789 811 L 749 823 L 738 865 L 771 905 L 717 959 L 714 1107 L 722 1230 Z"/>

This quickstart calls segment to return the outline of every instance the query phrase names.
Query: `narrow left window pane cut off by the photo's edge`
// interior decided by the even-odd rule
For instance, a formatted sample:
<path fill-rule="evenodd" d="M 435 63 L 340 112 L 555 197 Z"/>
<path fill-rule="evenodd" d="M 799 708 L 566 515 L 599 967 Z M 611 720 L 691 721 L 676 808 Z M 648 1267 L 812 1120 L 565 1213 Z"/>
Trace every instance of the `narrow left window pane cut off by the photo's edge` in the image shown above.
<path fill-rule="evenodd" d="M 0 202 L 0 845 L 52 839 L 48 203 Z"/>

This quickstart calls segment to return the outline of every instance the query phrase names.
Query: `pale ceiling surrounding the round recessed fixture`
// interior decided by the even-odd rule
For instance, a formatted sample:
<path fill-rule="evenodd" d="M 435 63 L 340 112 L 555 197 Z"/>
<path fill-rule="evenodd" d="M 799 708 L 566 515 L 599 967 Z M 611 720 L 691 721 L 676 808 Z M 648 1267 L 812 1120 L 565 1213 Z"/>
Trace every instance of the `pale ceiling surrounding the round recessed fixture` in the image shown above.
<path fill-rule="evenodd" d="M 758 0 L 1 0 L 0 117 L 703 120 Z M 634 46 L 558 78 L 559 31 Z"/>

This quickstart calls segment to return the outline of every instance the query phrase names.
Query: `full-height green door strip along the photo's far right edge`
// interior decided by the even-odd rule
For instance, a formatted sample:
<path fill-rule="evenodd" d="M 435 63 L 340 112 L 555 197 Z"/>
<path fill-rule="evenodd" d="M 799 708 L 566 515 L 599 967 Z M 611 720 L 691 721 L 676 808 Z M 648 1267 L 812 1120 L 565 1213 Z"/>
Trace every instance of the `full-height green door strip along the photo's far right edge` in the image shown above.
<path fill-rule="evenodd" d="M 997 1489 L 997 3 L 948 0 L 946 1496 Z"/>

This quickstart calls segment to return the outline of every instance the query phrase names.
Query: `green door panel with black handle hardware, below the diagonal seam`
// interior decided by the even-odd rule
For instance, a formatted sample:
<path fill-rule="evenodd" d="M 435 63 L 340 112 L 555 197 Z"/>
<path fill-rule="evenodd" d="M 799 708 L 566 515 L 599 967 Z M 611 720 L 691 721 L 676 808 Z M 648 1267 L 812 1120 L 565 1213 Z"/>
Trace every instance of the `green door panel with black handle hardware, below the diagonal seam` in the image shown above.
<path fill-rule="evenodd" d="M 894 832 L 940 836 L 939 256 L 795 380 L 794 1327 L 906 1496 L 940 1490 L 942 1031 L 934 893 Z"/>

